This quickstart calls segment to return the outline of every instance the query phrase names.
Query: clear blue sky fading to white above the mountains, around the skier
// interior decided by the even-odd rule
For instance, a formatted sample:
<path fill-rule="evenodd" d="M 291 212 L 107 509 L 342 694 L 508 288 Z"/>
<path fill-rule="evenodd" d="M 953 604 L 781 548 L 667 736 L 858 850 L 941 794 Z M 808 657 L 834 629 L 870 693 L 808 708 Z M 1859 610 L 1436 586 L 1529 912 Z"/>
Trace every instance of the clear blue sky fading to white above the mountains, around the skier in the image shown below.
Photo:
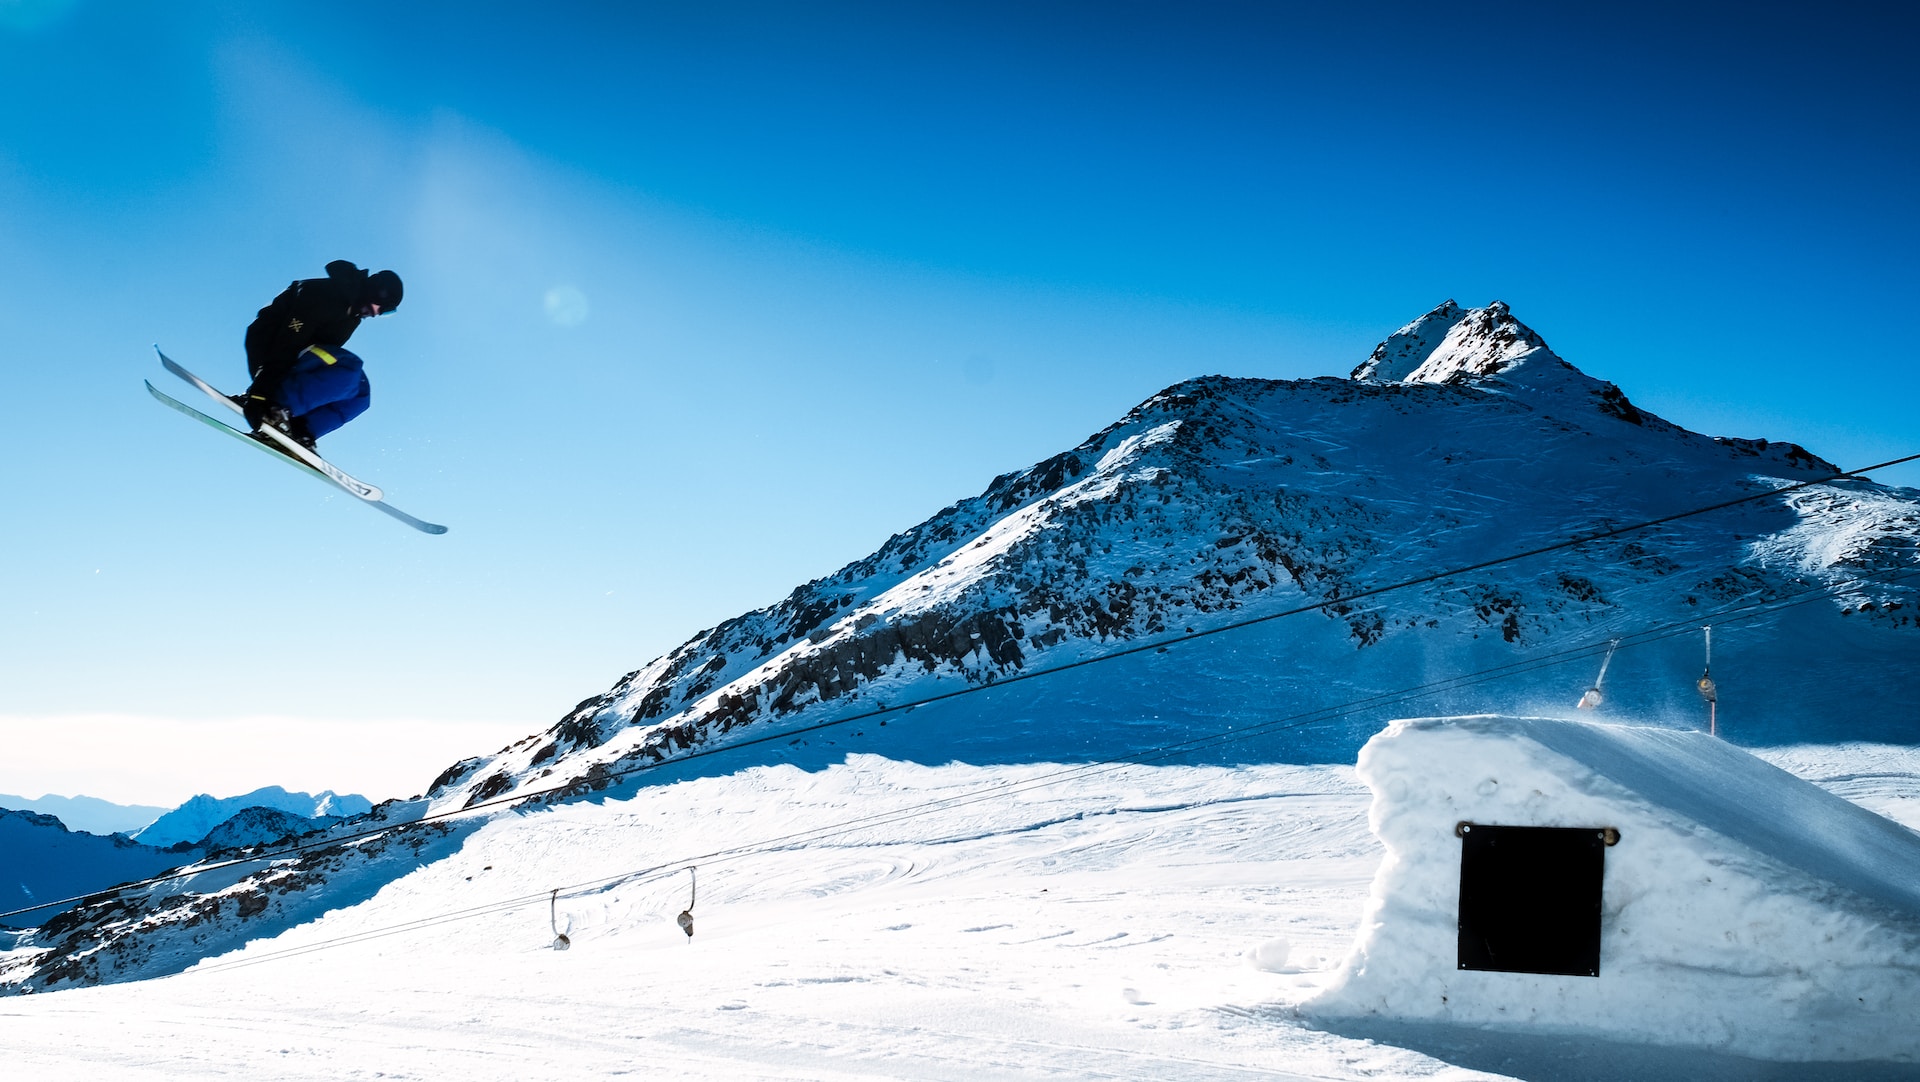
<path fill-rule="evenodd" d="M 1448 297 L 1688 428 L 1920 451 L 1912 15 L 1334 8 L 0 0 L 0 792 L 403 796 Z M 407 301 L 324 451 L 445 537 L 140 388 L 238 388 L 340 257 Z"/>

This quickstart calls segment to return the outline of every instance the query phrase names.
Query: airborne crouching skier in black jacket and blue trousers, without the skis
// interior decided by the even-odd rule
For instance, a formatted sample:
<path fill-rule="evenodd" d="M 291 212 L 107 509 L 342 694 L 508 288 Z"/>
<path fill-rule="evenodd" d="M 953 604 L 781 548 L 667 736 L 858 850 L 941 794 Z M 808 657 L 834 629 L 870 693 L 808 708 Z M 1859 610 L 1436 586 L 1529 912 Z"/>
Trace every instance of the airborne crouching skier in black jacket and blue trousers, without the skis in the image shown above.
<path fill-rule="evenodd" d="M 369 274 L 346 259 L 324 278 L 280 292 L 246 328 L 246 366 L 253 384 L 234 395 L 253 426 L 275 426 L 307 449 L 367 411 L 371 386 L 361 359 L 342 349 L 363 318 L 399 307 L 399 274 Z"/>

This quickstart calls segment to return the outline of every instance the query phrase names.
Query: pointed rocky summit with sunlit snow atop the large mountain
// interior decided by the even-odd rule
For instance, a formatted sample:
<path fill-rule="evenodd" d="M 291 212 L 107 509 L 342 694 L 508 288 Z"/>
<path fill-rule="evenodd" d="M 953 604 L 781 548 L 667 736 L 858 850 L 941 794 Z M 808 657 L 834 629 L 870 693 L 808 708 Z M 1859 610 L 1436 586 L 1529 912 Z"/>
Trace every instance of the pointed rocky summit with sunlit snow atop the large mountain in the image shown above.
<path fill-rule="evenodd" d="M 1402 384 L 1469 384 L 1519 366 L 1561 361 L 1540 334 L 1513 318 L 1505 301 L 1463 309 L 1448 299 L 1373 347 L 1356 380 Z"/>

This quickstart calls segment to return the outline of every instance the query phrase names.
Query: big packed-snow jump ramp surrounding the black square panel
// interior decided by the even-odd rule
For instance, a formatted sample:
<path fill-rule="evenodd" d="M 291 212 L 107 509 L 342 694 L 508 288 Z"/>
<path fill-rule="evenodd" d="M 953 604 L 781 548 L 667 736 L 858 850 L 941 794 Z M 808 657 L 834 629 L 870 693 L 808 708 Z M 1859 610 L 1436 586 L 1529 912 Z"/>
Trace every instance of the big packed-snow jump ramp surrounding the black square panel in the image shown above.
<path fill-rule="evenodd" d="M 1306 1015 L 1920 1061 L 1907 827 L 1674 729 L 1405 719 L 1361 748 L 1359 777 L 1386 858 L 1344 971 Z M 1597 976 L 1459 969 L 1461 821 L 1620 833 Z"/>

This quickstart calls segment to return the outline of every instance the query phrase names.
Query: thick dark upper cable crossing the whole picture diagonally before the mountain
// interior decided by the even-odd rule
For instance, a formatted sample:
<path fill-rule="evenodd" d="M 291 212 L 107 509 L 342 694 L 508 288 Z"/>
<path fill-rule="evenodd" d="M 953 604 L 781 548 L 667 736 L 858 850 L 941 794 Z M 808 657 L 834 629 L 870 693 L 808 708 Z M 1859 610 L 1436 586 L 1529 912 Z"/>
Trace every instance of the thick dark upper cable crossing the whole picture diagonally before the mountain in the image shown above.
<path fill-rule="evenodd" d="M 1914 462 L 1914 460 L 1920 460 L 1920 453 L 1907 455 L 1907 457 L 1901 457 L 1901 459 L 1889 459 L 1885 462 L 1876 462 L 1872 466 L 1862 466 L 1859 470 L 1847 470 L 1847 472 L 1830 474 L 1830 476 L 1824 476 L 1824 478 L 1814 478 L 1814 480 L 1807 480 L 1807 482 L 1795 482 L 1791 485 L 1784 485 L 1784 487 L 1778 487 L 1778 489 L 1766 489 L 1766 491 L 1761 491 L 1761 493 L 1749 493 L 1749 495 L 1743 495 L 1743 497 L 1736 497 L 1736 499 L 1728 499 L 1728 501 L 1720 501 L 1720 503 L 1711 503 L 1711 505 L 1705 505 L 1705 506 L 1695 506 L 1692 510 L 1680 510 L 1680 512 L 1674 512 L 1674 514 L 1665 514 L 1665 516 L 1659 516 L 1659 518 L 1649 518 L 1645 522 L 1636 522 L 1636 524 L 1630 524 L 1630 526 L 1615 526 L 1615 528 L 1609 528 L 1609 529 L 1582 533 L 1582 535 L 1576 535 L 1576 537 L 1571 537 L 1571 539 L 1565 539 L 1565 541 L 1557 541 L 1553 545 L 1542 545 L 1542 547 L 1536 547 L 1536 549 L 1526 549 L 1523 553 L 1511 553 L 1511 554 L 1505 554 L 1505 556 L 1496 556 L 1492 560 L 1480 560 L 1476 564 L 1467 564 L 1467 566 L 1461 566 L 1461 568 L 1452 568 L 1452 570 L 1444 570 L 1444 572 L 1432 572 L 1432 574 L 1427 574 L 1427 576 L 1419 576 L 1419 577 L 1413 577 L 1413 579 L 1402 579 L 1402 581 L 1380 585 L 1380 587 L 1369 587 L 1369 589 L 1363 589 L 1363 591 L 1356 591 L 1356 593 L 1332 597 L 1332 599 L 1327 599 L 1327 600 L 1319 600 L 1319 602 L 1311 602 L 1311 604 L 1304 604 L 1304 606 L 1296 606 L 1296 608 L 1286 608 L 1286 610 L 1281 610 L 1281 612 L 1267 612 L 1263 616 L 1254 616 L 1254 618 L 1238 620 L 1238 622 L 1233 622 L 1233 623 L 1221 623 L 1221 625 L 1215 625 L 1215 627 L 1204 627 L 1200 631 L 1185 631 L 1185 633 L 1169 635 L 1169 637 L 1164 637 L 1164 639 L 1154 639 L 1150 643 L 1139 643 L 1135 647 L 1123 647 L 1123 648 L 1117 648 L 1117 650 L 1110 650 L 1106 654 L 1096 654 L 1096 656 L 1091 656 L 1091 658 L 1079 658 L 1079 660 L 1073 660 L 1073 662 L 1064 662 L 1064 664 L 1043 668 L 1043 670 L 1027 670 L 1027 671 L 1020 671 L 1020 673 L 1014 673 L 1014 675 L 1006 675 L 1006 677 L 995 679 L 993 683 L 960 687 L 960 689 L 954 689 L 954 691 L 945 691 L 945 693 L 939 693 L 939 694 L 929 694 L 925 698 L 916 698 L 912 702 L 899 702 L 899 704 L 891 704 L 891 706 L 877 706 L 874 710 L 864 710 L 864 712 L 843 716 L 843 717 L 829 717 L 826 721 L 816 721 L 812 725 L 801 725 L 801 727 L 781 729 L 778 733 L 768 733 L 764 737 L 751 737 L 751 739 L 745 739 L 745 741 L 732 741 L 728 744 L 707 746 L 707 748 L 689 748 L 685 754 L 680 754 L 680 756 L 674 756 L 674 758 L 668 758 L 668 760 L 657 760 L 657 762 L 651 762 L 651 764 L 634 764 L 634 765 L 618 769 L 618 771 L 609 771 L 605 775 L 605 779 L 607 781 L 620 781 L 620 779 L 626 779 L 626 777 L 632 777 L 632 775 L 637 775 L 637 773 L 647 773 L 647 771 L 662 769 L 662 767 L 668 767 L 668 765 L 680 765 L 680 764 L 685 764 L 685 762 L 691 762 L 691 760 L 697 760 L 697 758 L 707 758 L 707 756 L 735 752 L 735 750 L 741 750 L 741 748 L 751 748 L 751 746 L 758 746 L 758 744 L 766 744 L 766 742 L 774 742 L 774 741 L 787 741 L 787 739 L 793 739 L 793 737 L 799 737 L 799 735 L 818 733 L 822 729 L 831 729 L 831 727 L 839 727 L 839 725 L 851 725 L 851 723 L 856 723 L 856 721 L 870 721 L 874 717 L 883 717 L 887 714 L 900 714 L 900 712 L 916 710 L 920 706 L 931 706 L 931 704 L 937 704 L 937 702 L 947 702 L 950 698 L 958 698 L 958 696 L 964 696 L 964 694 L 975 694 L 975 693 L 981 693 L 981 691 L 991 691 L 991 689 L 1006 687 L 1010 683 L 1021 683 L 1021 681 L 1029 681 L 1029 679 L 1050 677 L 1050 675 L 1058 675 L 1058 673 L 1064 673 L 1064 671 L 1071 671 L 1071 670 L 1081 670 L 1081 668 L 1087 668 L 1087 666 L 1094 666 L 1094 664 L 1100 664 L 1100 662 L 1112 662 L 1112 660 L 1127 658 L 1127 656 L 1133 656 L 1133 654 L 1144 654 L 1144 652 L 1150 652 L 1150 650 L 1160 650 L 1164 647 L 1190 643 L 1194 639 L 1206 639 L 1210 635 L 1219 635 L 1219 633 L 1225 633 L 1225 631 L 1238 631 L 1238 629 L 1252 627 L 1252 625 L 1258 625 L 1258 623 L 1267 623 L 1267 622 L 1273 622 L 1273 620 L 1284 620 L 1284 618 L 1302 616 L 1302 614 L 1308 614 L 1308 612 L 1321 612 L 1321 610 L 1331 608 L 1334 604 L 1348 604 L 1348 602 L 1354 602 L 1354 600 L 1363 600 L 1363 599 L 1369 599 L 1369 597 L 1379 597 L 1379 595 L 1400 591 L 1400 589 L 1409 589 L 1409 587 L 1417 587 L 1417 585 L 1428 585 L 1428 583 L 1434 583 L 1434 581 L 1442 581 L 1442 579 L 1448 579 L 1448 577 L 1457 577 L 1457 576 L 1480 572 L 1480 570 L 1494 568 L 1494 566 L 1500 566 L 1500 564 L 1511 564 L 1511 562 L 1526 560 L 1526 558 L 1540 556 L 1540 554 L 1546 554 L 1546 553 L 1557 553 L 1557 551 L 1565 551 L 1565 549 L 1574 549 L 1578 545 L 1588 545 L 1592 541 L 1605 541 L 1605 539 L 1611 539 L 1611 537 L 1620 537 L 1624 533 L 1634 533 L 1634 531 L 1640 531 L 1640 529 L 1649 529 L 1653 526 L 1663 526 L 1667 522 L 1678 522 L 1682 518 L 1693 518 L 1693 516 L 1699 516 L 1699 514 L 1709 514 L 1709 512 L 1715 512 L 1715 510 L 1724 510 L 1728 506 L 1738 506 L 1738 505 L 1755 503 L 1755 501 L 1761 501 L 1761 499 L 1780 497 L 1780 495 L 1786 495 L 1786 493 L 1791 493 L 1791 491 L 1799 491 L 1799 489 L 1807 489 L 1807 487 L 1812 487 L 1812 485 L 1832 483 L 1832 482 L 1839 482 L 1839 480 L 1853 480 L 1853 478 L 1859 478 L 1860 474 L 1870 474 L 1870 472 L 1876 472 L 1876 470 L 1885 470 L 1889 466 L 1899 466 L 1899 464 Z M 127 882 L 127 884 L 121 884 L 121 886 L 108 888 L 108 890 L 96 890 L 92 894 L 79 894 L 79 896 L 73 896 L 73 898 L 58 898 L 58 900 L 52 900 L 52 902 L 42 902 L 38 906 L 27 906 L 23 909 L 8 909 L 8 911 L 0 911 L 0 919 L 21 915 L 21 913 L 33 913 L 33 911 L 38 911 L 38 909 L 50 909 L 54 906 L 65 906 L 65 904 L 71 904 L 71 902 L 90 902 L 90 900 L 111 898 L 113 894 L 117 894 L 121 890 L 148 886 L 148 884 L 154 884 L 154 882 L 163 882 L 167 879 L 184 879 L 188 875 L 202 875 L 202 873 L 219 871 L 219 869 L 225 869 L 225 867 L 236 867 L 236 865 L 246 865 L 246 863 L 259 863 L 259 861 L 280 859 L 280 858 L 296 856 L 296 854 L 301 854 L 301 852 L 307 852 L 307 850 L 315 850 L 315 848 L 328 848 L 328 846 L 348 844 L 348 842 L 355 842 L 355 840 L 363 840 L 363 838 L 372 838 L 372 836 L 378 836 L 378 835 L 384 835 L 384 833 L 390 833 L 390 831 L 403 831 L 403 829 L 417 827 L 417 825 L 422 825 L 422 823 L 438 823 L 438 821 L 451 819 L 451 817 L 457 817 L 457 815 L 467 815 L 470 812 L 486 812 L 486 810 L 492 810 L 492 808 L 499 808 L 499 806 L 522 804 L 522 802 L 528 802 L 528 800 L 538 800 L 541 796 L 553 796 L 553 794 L 574 790 L 574 788 L 578 788 L 578 785 L 580 785 L 578 781 L 570 781 L 570 783 L 564 783 L 564 785 L 553 785 L 553 787 L 545 787 L 545 788 L 532 788 L 532 790 L 526 790 L 526 792 L 509 792 L 509 794 L 497 796 L 493 800 L 484 800 L 484 802 L 478 802 L 478 804 L 468 804 L 465 808 L 449 808 L 445 812 L 434 812 L 434 813 L 428 813 L 428 815 L 420 815 L 419 819 L 407 819 L 403 823 L 388 823 L 388 825 L 382 825 L 382 827 L 371 827 L 371 829 L 365 829 L 365 831 L 338 835 L 338 836 L 330 836 L 330 838 L 321 838 L 321 840 L 315 840 L 315 842 L 303 842 L 303 844 L 298 844 L 298 846 L 286 846 L 282 850 L 275 850 L 275 852 L 269 852 L 269 854 L 232 858 L 232 859 L 227 859 L 227 861 L 219 861 L 219 863 L 211 863 L 211 865 L 202 865 L 202 867 L 196 867 L 192 871 L 165 873 L 165 875 L 159 875 L 159 877 L 150 877 L 150 879 L 144 879 L 144 881 Z"/>

